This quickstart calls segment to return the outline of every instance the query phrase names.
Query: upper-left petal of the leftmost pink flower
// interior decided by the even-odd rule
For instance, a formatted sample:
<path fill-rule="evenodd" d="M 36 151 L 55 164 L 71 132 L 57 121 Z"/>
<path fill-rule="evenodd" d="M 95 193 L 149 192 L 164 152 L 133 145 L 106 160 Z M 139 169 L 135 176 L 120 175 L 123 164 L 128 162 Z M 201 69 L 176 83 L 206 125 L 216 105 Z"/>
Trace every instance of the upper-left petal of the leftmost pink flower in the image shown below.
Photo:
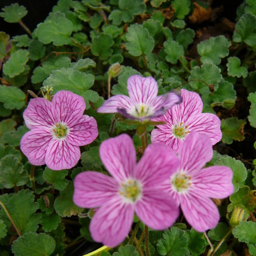
<path fill-rule="evenodd" d="M 28 129 L 48 128 L 51 129 L 58 121 L 57 113 L 51 102 L 45 98 L 33 98 L 30 100 L 23 118 Z"/>

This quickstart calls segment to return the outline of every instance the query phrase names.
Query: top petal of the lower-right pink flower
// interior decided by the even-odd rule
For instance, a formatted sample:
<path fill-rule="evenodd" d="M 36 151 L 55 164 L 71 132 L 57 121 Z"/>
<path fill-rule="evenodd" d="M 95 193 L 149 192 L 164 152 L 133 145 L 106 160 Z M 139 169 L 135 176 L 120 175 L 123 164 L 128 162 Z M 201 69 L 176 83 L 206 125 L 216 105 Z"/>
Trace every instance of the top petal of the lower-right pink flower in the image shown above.
<path fill-rule="evenodd" d="M 193 131 L 179 150 L 180 168 L 195 175 L 212 159 L 212 144 L 207 135 Z"/>

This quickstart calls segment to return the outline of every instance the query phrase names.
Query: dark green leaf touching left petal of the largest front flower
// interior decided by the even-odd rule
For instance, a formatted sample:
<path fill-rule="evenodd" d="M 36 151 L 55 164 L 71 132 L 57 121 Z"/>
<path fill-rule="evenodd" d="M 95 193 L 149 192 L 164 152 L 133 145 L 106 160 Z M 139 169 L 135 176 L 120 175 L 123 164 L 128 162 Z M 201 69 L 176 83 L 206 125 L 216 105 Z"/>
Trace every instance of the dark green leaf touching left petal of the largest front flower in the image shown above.
<path fill-rule="evenodd" d="M 60 196 L 55 199 L 54 208 L 61 217 L 71 217 L 82 212 L 82 208 L 73 203 L 73 183 L 69 182 L 67 188 L 60 191 Z"/>

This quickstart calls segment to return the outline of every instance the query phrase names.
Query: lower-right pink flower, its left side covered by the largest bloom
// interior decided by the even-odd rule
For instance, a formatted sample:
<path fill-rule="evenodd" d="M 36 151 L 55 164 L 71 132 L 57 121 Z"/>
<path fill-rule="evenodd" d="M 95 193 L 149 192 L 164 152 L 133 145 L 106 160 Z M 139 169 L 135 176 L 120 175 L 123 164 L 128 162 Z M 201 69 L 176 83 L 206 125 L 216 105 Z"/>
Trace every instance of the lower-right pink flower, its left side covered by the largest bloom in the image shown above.
<path fill-rule="evenodd" d="M 212 158 L 210 139 L 205 134 L 188 135 L 178 155 L 179 167 L 164 182 L 164 190 L 170 193 L 170 201 L 180 204 L 184 217 L 195 230 L 204 232 L 215 228 L 220 214 L 210 198 L 232 195 L 232 170 L 226 166 L 203 168 Z"/>

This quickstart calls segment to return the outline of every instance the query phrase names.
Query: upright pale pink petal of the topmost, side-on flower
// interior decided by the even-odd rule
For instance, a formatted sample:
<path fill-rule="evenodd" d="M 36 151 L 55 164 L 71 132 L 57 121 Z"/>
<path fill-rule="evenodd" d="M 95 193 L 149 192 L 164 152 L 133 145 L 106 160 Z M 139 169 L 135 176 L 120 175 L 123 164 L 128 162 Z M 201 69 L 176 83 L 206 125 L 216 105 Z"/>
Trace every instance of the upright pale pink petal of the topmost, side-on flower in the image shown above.
<path fill-rule="evenodd" d="M 133 75 L 127 80 L 127 90 L 135 105 L 150 105 L 158 94 L 158 84 L 153 77 Z"/>

